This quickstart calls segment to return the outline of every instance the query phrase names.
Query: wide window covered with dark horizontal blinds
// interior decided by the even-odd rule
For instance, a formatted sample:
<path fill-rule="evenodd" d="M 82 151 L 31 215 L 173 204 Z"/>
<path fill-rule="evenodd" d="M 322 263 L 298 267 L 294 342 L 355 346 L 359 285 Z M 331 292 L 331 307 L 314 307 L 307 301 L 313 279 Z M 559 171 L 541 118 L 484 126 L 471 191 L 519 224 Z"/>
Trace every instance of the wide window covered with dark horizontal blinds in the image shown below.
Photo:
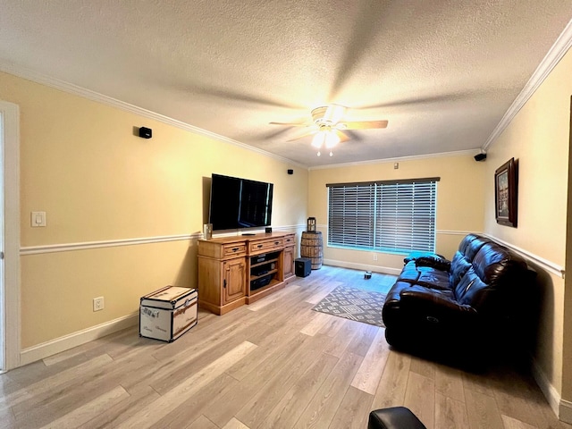
<path fill-rule="evenodd" d="M 433 252 L 437 181 L 326 185 L 328 244 L 383 252 Z"/>

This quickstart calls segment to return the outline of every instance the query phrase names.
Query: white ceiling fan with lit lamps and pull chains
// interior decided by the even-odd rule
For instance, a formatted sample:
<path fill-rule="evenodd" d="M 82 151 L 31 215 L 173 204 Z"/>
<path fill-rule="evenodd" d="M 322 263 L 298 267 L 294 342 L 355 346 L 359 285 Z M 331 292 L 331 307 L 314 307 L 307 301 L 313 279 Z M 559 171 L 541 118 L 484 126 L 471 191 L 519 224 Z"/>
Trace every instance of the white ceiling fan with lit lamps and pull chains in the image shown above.
<path fill-rule="evenodd" d="M 387 121 L 341 121 L 346 108 L 343 105 L 323 105 L 312 110 L 312 122 L 270 122 L 273 125 L 286 125 L 290 127 L 311 127 L 308 131 L 294 140 L 302 139 L 314 134 L 312 146 L 320 149 L 325 146 L 330 149 L 330 156 L 333 156 L 332 147 L 341 141 L 349 140 L 349 136 L 343 130 L 368 130 L 386 128 Z M 290 140 L 291 141 L 291 140 Z"/>

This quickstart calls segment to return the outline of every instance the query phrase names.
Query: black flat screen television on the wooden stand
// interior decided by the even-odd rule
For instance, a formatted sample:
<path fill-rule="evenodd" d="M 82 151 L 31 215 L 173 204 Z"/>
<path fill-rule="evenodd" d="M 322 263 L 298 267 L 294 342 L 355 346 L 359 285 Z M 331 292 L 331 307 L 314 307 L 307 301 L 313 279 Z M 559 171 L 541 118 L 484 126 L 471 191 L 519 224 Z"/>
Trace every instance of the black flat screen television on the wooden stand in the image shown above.
<path fill-rule="evenodd" d="M 208 223 L 213 231 L 270 226 L 273 183 L 213 174 Z"/>

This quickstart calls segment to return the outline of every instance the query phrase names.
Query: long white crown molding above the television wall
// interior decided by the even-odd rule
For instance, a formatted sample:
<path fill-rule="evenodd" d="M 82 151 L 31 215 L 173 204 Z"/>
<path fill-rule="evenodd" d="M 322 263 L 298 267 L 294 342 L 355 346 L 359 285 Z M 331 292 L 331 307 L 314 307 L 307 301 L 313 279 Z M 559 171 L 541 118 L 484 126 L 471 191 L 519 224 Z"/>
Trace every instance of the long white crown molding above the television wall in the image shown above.
<path fill-rule="evenodd" d="M 0 71 L 4 71 L 9 74 L 13 74 L 22 79 L 31 80 L 32 82 L 40 83 L 42 85 L 46 85 L 46 87 L 59 89 L 63 92 L 67 92 L 68 94 L 79 96 L 83 98 L 87 98 L 91 101 L 96 101 L 97 103 L 101 103 L 103 105 L 110 105 L 112 107 L 122 109 L 123 111 L 130 112 L 131 114 L 139 114 L 139 116 L 143 116 L 148 119 L 155 120 L 157 122 L 163 122 L 167 125 L 171 125 L 172 127 L 179 128 L 181 130 L 186 130 L 192 132 L 194 134 L 198 134 L 201 136 L 205 136 L 209 139 L 214 139 L 218 141 L 222 141 L 223 143 L 228 143 L 233 146 L 241 147 L 243 149 L 247 149 L 251 152 L 256 152 L 257 154 L 268 156 L 273 158 L 277 161 L 280 161 L 284 164 L 295 165 L 300 168 L 307 168 L 307 165 L 299 164 L 296 161 L 291 159 L 285 158 L 283 156 L 277 156 L 270 152 L 267 152 L 263 149 L 258 147 L 248 146 L 246 143 L 241 143 L 238 140 L 229 139 L 227 137 L 221 136 L 220 134 L 216 134 L 214 132 L 203 130 L 202 128 L 195 127 L 190 125 L 187 122 L 182 122 L 177 119 L 170 118 L 169 116 L 165 116 L 164 114 L 157 114 L 150 110 L 144 109 L 137 105 L 131 105 L 130 103 L 126 103 L 124 101 L 118 100 L 114 97 L 108 97 L 104 94 L 100 94 L 96 91 L 92 91 L 87 88 L 82 88 L 72 83 L 66 82 L 64 80 L 55 79 L 53 77 L 47 76 L 45 74 L 39 73 L 38 71 L 30 70 L 26 67 L 22 67 L 20 65 L 16 65 L 11 62 L 6 62 L 4 60 L 0 60 Z"/>

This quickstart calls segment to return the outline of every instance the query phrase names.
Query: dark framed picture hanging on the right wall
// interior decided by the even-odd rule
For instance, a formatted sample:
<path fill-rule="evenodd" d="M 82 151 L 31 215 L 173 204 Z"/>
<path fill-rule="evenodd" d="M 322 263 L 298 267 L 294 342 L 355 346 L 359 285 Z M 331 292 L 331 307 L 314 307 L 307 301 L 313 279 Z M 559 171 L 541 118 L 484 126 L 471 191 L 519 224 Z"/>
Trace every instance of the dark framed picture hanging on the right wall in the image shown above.
<path fill-rule="evenodd" d="M 517 228 L 517 161 L 510 158 L 494 172 L 494 210 L 497 223 Z"/>

